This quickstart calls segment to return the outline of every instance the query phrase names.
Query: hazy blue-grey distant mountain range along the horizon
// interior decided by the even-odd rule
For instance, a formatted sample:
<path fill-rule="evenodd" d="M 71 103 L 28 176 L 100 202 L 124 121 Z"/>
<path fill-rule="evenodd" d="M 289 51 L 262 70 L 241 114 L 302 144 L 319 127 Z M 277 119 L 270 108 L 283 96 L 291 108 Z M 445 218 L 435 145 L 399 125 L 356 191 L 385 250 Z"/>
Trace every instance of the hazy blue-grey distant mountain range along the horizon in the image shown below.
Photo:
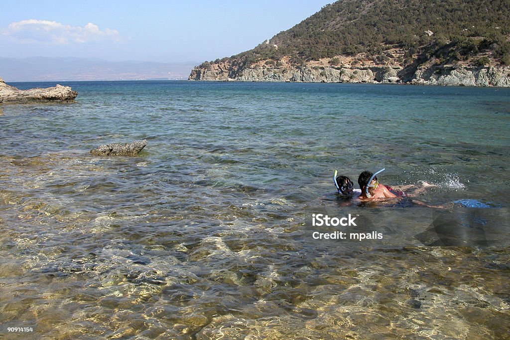
<path fill-rule="evenodd" d="M 197 63 L 112 62 L 87 58 L 3 58 L 0 75 L 6 82 L 187 79 Z"/>

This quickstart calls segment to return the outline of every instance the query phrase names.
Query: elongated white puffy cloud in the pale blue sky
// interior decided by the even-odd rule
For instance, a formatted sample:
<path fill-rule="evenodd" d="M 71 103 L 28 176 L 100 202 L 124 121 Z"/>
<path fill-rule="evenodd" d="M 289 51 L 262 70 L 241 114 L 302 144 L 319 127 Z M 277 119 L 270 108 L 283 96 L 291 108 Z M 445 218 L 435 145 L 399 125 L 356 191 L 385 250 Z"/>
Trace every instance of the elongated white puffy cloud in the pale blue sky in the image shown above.
<path fill-rule="evenodd" d="M 22 20 L 10 23 L 4 30 L 7 35 L 20 42 L 47 42 L 53 44 L 85 43 L 85 42 L 116 42 L 120 34 L 116 30 L 99 30 L 92 22 L 84 27 L 64 25 L 57 21 Z"/>

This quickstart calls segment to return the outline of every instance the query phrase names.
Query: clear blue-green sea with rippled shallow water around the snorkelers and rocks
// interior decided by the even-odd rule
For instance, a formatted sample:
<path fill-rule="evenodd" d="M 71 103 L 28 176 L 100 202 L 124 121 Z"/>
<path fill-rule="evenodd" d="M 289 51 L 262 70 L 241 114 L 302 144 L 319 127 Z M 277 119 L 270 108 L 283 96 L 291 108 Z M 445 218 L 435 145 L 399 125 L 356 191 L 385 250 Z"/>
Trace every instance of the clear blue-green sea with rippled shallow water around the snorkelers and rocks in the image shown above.
<path fill-rule="evenodd" d="M 0 337 L 509 338 L 510 89 L 60 84 L 0 106 Z"/>

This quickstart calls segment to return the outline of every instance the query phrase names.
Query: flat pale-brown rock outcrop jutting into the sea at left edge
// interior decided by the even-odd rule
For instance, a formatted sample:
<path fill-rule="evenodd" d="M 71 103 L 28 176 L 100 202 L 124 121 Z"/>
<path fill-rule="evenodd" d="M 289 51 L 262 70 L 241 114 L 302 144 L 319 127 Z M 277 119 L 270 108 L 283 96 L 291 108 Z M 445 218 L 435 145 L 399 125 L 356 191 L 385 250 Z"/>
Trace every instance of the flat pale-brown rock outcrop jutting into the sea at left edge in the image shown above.
<path fill-rule="evenodd" d="M 78 92 L 69 86 L 20 90 L 0 78 L 0 104 L 73 103 Z"/>

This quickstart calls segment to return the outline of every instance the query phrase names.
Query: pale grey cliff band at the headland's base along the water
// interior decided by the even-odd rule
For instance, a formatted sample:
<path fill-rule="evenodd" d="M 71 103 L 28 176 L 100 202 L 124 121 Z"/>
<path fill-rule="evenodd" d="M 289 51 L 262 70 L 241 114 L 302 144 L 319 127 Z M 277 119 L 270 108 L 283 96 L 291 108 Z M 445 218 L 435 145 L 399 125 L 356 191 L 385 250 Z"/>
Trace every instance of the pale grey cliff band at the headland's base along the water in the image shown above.
<path fill-rule="evenodd" d="M 510 87 L 510 67 L 233 67 L 223 62 L 197 67 L 189 80 L 323 83 L 408 83 L 447 86 Z"/>

